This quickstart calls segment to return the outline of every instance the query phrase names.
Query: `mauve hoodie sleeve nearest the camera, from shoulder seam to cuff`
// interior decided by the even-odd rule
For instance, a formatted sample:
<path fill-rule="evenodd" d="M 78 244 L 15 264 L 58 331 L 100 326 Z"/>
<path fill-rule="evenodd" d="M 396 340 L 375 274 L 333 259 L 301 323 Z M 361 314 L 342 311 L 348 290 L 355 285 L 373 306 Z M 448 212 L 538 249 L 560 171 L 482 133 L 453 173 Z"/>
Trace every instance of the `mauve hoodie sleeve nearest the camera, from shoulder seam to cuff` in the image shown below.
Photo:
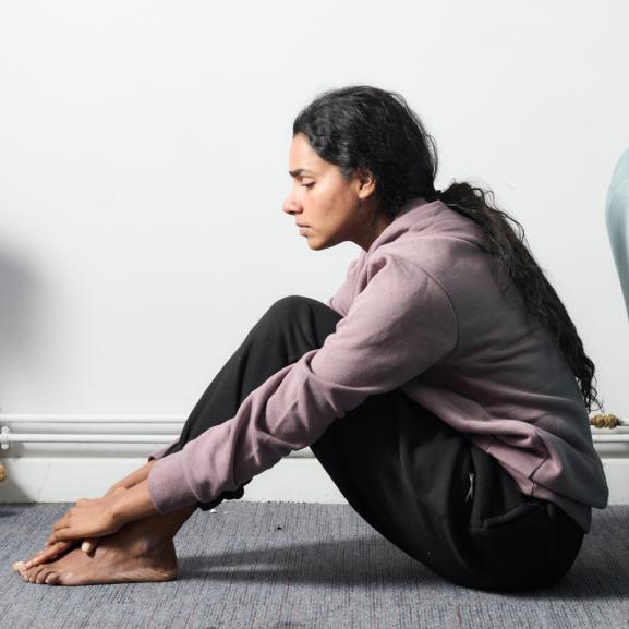
<path fill-rule="evenodd" d="M 371 261 L 370 276 L 320 348 L 251 391 L 233 418 L 157 461 L 148 489 L 160 513 L 238 488 L 316 441 L 368 396 L 447 359 L 457 344 L 457 317 L 440 285 L 390 255 Z"/>

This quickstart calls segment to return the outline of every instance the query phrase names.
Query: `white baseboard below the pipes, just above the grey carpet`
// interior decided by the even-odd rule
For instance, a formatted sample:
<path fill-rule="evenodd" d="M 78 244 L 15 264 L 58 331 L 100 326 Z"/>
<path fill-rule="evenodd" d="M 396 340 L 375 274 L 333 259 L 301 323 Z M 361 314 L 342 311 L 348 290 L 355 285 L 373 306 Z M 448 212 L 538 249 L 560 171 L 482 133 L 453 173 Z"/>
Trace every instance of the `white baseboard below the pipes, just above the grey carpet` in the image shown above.
<path fill-rule="evenodd" d="M 629 505 L 629 458 L 602 458 L 610 505 Z M 75 503 L 97 498 L 146 458 L 3 457 L 0 503 Z M 314 457 L 287 457 L 252 479 L 243 500 L 347 504 Z"/>

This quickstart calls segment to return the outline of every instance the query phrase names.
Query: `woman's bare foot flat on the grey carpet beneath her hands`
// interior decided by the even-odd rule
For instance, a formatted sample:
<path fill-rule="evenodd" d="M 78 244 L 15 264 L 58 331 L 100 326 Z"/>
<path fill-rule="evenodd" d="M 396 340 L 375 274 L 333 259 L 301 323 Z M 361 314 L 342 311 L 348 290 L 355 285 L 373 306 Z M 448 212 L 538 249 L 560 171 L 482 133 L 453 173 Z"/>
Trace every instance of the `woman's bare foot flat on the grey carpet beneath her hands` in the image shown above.
<path fill-rule="evenodd" d="M 48 585 L 171 581 L 177 578 L 177 555 L 171 537 L 156 540 L 147 534 L 146 520 L 133 521 L 101 537 L 92 556 L 74 548 L 21 574 L 25 581 Z"/>

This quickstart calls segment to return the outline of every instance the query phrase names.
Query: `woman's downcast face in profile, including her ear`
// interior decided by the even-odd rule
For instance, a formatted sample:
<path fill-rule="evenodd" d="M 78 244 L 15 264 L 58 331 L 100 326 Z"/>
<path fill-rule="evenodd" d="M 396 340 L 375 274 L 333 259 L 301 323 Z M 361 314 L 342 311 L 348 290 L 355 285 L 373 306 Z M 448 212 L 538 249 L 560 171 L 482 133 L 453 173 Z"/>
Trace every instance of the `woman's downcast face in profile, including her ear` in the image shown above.
<path fill-rule="evenodd" d="M 293 183 L 282 209 L 294 215 L 295 223 L 307 226 L 303 237 L 311 249 L 327 249 L 349 240 L 366 251 L 386 227 L 382 220 L 368 226 L 373 216 L 370 197 L 375 190 L 371 173 L 354 173 L 347 181 L 336 165 L 316 154 L 303 133 L 292 138 L 289 174 Z"/>

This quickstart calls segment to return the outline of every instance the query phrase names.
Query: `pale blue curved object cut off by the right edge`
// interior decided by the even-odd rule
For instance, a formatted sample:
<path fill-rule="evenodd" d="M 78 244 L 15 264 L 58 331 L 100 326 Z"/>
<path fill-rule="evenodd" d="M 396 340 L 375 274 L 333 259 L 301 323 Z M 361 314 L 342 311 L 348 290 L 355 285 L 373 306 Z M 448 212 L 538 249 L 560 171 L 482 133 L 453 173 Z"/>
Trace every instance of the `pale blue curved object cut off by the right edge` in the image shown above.
<path fill-rule="evenodd" d="M 614 169 L 605 216 L 629 317 L 629 148 L 620 156 Z"/>

